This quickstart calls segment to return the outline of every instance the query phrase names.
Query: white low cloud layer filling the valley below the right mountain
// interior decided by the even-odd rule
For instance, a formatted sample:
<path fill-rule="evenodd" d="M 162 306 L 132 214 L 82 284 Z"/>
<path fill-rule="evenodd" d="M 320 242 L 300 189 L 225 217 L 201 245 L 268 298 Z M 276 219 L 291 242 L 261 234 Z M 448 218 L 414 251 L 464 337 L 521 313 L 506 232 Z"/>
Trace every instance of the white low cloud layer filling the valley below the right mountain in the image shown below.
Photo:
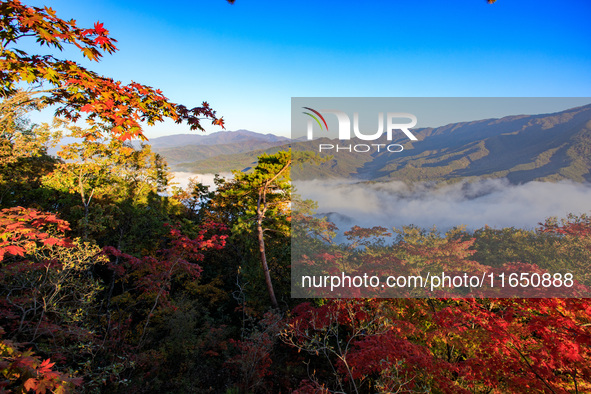
<path fill-rule="evenodd" d="M 511 185 L 488 179 L 435 187 L 403 182 L 354 183 L 351 180 L 294 182 L 303 198 L 317 201 L 342 230 L 351 225 L 387 228 L 415 224 L 446 231 L 464 224 L 533 229 L 546 218 L 591 211 L 591 184 L 569 181 Z"/>

